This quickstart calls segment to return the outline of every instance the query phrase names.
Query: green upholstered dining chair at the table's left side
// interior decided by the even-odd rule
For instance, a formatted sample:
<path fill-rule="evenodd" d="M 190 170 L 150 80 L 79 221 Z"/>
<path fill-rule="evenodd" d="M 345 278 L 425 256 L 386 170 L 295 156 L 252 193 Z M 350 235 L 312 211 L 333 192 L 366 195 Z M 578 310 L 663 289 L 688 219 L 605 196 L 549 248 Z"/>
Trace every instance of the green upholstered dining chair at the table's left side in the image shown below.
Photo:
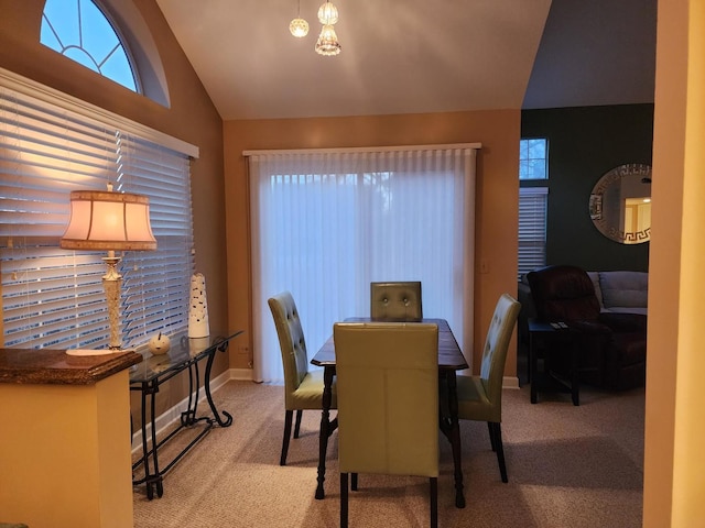
<path fill-rule="evenodd" d="M 292 295 L 289 292 L 283 292 L 271 297 L 268 302 L 276 327 L 284 366 L 284 408 L 286 410 L 284 414 L 284 440 L 279 463 L 286 465 L 294 410 L 296 411 L 294 438 L 299 438 L 304 409 L 321 410 L 323 408 L 323 371 L 308 372 L 306 341 Z M 335 382 L 330 408 L 336 408 Z"/>

